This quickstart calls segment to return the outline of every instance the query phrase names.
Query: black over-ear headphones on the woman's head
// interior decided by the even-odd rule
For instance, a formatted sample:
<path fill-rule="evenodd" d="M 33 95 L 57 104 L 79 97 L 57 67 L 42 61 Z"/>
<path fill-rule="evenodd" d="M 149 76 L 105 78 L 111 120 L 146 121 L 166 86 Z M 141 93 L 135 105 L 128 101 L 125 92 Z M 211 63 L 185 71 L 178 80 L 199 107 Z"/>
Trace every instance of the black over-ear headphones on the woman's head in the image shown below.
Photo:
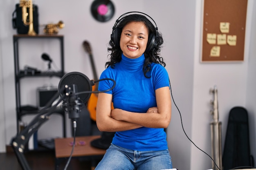
<path fill-rule="evenodd" d="M 157 38 L 158 38 L 158 28 L 157 28 L 157 24 L 155 23 L 155 21 L 153 20 L 153 18 L 151 18 L 149 15 L 147 15 L 146 13 L 142 13 L 142 12 L 137 12 L 137 11 L 132 11 L 132 12 L 127 12 L 127 13 L 124 13 L 123 15 L 121 15 L 117 20 L 116 20 L 116 23 L 115 25 L 113 26 L 113 29 L 112 29 L 112 34 L 111 34 L 111 40 L 115 42 L 116 46 L 119 47 L 119 42 L 120 42 L 120 35 L 121 35 L 121 28 L 117 28 L 117 25 L 118 23 L 120 22 L 120 20 L 122 20 L 123 18 L 125 18 L 127 16 L 127 14 L 130 14 L 130 13 L 139 13 L 139 14 L 143 14 L 143 15 L 146 15 L 148 18 L 150 18 L 154 24 L 155 24 L 155 32 L 156 32 L 156 35 L 154 35 L 153 33 L 150 33 L 150 35 L 148 35 L 148 43 L 147 43 L 147 47 L 146 47 L 146 51 L 145 52 L 148 52 L 150 51 L 151 49 L 154 48 L 154 46 L 157 46 Z M 153 22 L 151 22 L 153 24 Z"/>

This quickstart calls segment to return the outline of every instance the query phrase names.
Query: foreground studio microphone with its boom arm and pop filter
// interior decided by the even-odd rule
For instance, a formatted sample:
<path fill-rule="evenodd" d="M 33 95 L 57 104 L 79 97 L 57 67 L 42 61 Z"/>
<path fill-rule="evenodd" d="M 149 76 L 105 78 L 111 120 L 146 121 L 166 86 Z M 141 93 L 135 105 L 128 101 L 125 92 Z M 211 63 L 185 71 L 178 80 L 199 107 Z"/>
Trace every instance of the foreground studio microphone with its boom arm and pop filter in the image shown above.
<path fill-rule="evenodd" d="M 50 63 L 49 63 L 49 65 L 50 65 Z M 74 73 L 77 74 L 76 72 L 74 72 Z M 70 75 L 70 74 L 67 74 L 67 75 Z M 63 78 L 67 77 L 67 75 L 64 75 L 61 78 L 59 87 L 61 86 L 61 82 L 63 81 Z M 83 75 L 83 77 L 86 77 L 86 76 Z M 90 82 L 89 82 L 89 84 L 94 85 L 94 83 L 103 81 L 103 80 L 111 80 L 114 82 L 114 85 L 112 86 L 112 88 L 109 88 L 104 91 L 94 91 L 94 92 L 85 91 L 85 92 L 79 92 L 79 93 L 76 93 L 76 91 L 77 91 L 76 84 L 72 84 L 72 86 L 68 86 L 65 84 L 62 85 L 62 87 L 58 89 L 59 93 L 56 93 L 54 95 L 54 97 L 52 97 L 52 99 L 46 104 L 46 106 L 39 111 L 38 115 L 36 115 L 36 117 L 34 117 L 34 119 L 32 119 L 32 121 L 28 124 L 28 126 L 26 128 L 24 128 L 23 130 L 21 130 L 17 134 L 17 136 L 12 140 L 11 145 L 13 147 L 16 157 L 18 158 L 18 161 L 19 161 L 20 165 L 22 166 L 23 170 L 31 170 L 29 167 L 29 164 L 27 163 L 27 160 L 23 154 L 23 152 L 25 150 L 25 145 L 29 141 L 29 138 L 34 134 L 34 132 L 36 132 L 36 130 L 38 130 L 38 128 L 40 128 L 40 126 L 42 126 L 42 124 L 45 123 L 45 121 L 49 120 L 49 116 L 52 115 L 52 113 L 54 113 L 55 108 L 58 106 L 58 104 L 61 103 L 61 100 L 63 100 L 63 102 L 65 103 L 65 104 L 62 104 L 62 108 L 64 108 L 64 111 L 69 114 L 69 118 L 72 120 L 73 127 L 75 129 L 76 128 L 76 120 L 79 118 L 79 113 L 81 112 L 81 106 L 85 105 L 85 101 L 82 101 L 80 99 L 80 97 L 78 97 L 78 95 L 81 95 L 84 93 L 107 92 L 107 91 L 112 90 L 116 85 L 115 80 L 109 79 L 109 78 L 97 80 L 97 81 L 93 82 L 93 84 L 90 84 Z M 53 102 L 58 98 L 59 94 L 60 94 L 60 99 L 54 106 L 52 106 Z M 74 132 L 74 134 L 75 134 L 75 132 Z M 74 145 L 73 145 L 73 147 L 74 147 Z M 70 155 L 70 158 L 71 158 L 71 155 Z"/>

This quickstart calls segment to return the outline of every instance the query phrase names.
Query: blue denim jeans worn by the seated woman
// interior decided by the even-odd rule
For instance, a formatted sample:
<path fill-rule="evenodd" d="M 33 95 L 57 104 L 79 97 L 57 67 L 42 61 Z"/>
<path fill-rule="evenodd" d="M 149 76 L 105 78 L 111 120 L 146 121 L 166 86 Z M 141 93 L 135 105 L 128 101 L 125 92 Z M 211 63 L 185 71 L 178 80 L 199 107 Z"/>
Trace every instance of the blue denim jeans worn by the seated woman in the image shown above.
<path fill-rule="evenodd" d="M 95 170 L 164 170 L 173 168 L 168 150 L 136 151 L 111 144 Z"/>

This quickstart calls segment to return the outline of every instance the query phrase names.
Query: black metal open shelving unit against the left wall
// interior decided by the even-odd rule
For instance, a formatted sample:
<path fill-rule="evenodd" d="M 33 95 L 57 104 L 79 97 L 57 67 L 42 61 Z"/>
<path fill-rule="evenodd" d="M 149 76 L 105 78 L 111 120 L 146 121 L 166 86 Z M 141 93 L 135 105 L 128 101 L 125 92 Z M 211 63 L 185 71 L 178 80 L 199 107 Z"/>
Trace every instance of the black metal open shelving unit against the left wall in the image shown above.
<path fill-rule="evenodd" d="M 20 70 L 19 67 L 19 40 L 20 39 L 58 39 L 60 41 L 60 52 L 61 52 L 61 69 L 57 72 L 34 72 L 27 73 L 25 70 Z M 37 114 L 39 110 L 27 110 L 24 109 L 20 104 L 20 79 L 26 77 L 63 77 L 64 72 L 64 37 L 63 35 L 35 35 L 30 36 L 26 34 L 13 35 L 13 49 L 14 49 L 14 69 L 15 69 L 15 90 L 16 90 L 16 123 L 17 123 L 17 134 L 19 133 L 19 126 L 22 116 L 29 114 Z M 66 119 L 65 111 L 60 108 L 56 108 L 54 113 L 60 114 L 63 117 L 63 137 L 66 137 Z"/>

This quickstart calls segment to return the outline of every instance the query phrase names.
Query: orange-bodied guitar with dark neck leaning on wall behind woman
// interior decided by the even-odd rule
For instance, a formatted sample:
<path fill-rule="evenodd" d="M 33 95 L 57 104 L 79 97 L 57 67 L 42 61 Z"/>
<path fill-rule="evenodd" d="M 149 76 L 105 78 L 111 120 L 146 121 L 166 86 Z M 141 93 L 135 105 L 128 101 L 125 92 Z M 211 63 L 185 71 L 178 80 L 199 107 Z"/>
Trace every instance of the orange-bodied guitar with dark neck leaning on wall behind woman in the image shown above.
<path fill-rule="evenodd" d="M 88 53 L 90 57 L 90 62 L 92 65 L 92 72 L 93 72 L 93 79 L 97 80 L 98 76 L 96 73 L 96 68 L 92 56 L 92 49 L 90 47 L 90 44 L 88 41 L 83 42 L 83 48 L 85 49 L 85 52 Z M 92 91 L 97 91 L 98 90 L 98 83 L 96 83 L 94 86 L 92 86 Z M 98 100 L 98 93 L 92 93 L 90 99 L 88 100 L 88 106 L 87 109 L 90 113 L 90 118 L 94 121 L 96 121 L 96 106 L 97 106 L 97 100 Z"/>

